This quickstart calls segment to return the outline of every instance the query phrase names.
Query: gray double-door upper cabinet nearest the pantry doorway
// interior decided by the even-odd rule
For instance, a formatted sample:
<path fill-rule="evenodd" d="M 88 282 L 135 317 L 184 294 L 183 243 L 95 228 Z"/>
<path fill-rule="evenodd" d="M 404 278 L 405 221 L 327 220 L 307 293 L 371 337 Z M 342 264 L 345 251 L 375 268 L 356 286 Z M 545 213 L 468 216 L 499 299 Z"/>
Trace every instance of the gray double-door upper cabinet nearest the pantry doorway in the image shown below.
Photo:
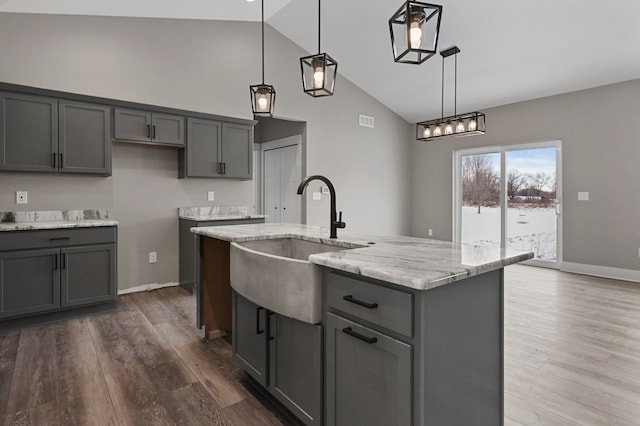
<path fill-rule="evenodd" d="M 186 152 L 180 152 L 179 177 L 251 179 L 253 126 L 187 118 Z"/>

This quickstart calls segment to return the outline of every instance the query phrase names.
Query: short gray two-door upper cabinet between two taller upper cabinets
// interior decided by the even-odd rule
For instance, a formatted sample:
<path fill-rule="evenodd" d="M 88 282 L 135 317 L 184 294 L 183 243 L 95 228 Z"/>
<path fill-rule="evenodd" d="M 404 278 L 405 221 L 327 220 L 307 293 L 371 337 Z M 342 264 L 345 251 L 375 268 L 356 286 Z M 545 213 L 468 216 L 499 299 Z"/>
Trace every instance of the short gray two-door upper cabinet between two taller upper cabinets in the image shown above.
<path fill-rule="evenodd" d="M 184 117 L 116 108 L 114 121 L 116 140 L 184 146 Z"/>

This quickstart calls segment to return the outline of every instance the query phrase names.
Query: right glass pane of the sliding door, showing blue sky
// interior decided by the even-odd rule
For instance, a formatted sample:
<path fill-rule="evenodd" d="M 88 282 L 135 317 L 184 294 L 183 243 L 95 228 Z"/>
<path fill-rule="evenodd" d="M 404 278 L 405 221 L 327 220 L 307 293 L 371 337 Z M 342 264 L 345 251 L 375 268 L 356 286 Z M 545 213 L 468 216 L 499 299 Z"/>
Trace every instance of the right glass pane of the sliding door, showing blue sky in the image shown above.
<path fill-rule="evenodd" d="M 532 251 L 535 260 L 556 262 L 556 147 L 506 151 L 505 169 L 506 247 Z"/>

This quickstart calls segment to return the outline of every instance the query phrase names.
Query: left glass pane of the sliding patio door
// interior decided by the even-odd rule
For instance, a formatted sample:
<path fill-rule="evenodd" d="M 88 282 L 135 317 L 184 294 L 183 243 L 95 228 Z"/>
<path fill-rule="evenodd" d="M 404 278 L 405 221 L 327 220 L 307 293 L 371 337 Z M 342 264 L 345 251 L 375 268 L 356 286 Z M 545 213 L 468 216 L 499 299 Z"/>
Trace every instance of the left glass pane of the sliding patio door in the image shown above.
<path fill-rule="evenodd" d="M 460 241 L 500 247 L 502 242 L 500 153 L 460 156 Z"/>

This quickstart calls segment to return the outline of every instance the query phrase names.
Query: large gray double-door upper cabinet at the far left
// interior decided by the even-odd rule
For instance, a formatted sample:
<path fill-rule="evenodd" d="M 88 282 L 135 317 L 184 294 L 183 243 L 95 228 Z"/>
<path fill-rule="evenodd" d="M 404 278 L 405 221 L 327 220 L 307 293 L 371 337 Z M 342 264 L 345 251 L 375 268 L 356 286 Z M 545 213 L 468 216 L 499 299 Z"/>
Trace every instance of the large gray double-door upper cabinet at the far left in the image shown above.
<path fill-rule="evenodd" d="M 111 108 L 0 93 L 0 170 L 111 174 Z"/>

